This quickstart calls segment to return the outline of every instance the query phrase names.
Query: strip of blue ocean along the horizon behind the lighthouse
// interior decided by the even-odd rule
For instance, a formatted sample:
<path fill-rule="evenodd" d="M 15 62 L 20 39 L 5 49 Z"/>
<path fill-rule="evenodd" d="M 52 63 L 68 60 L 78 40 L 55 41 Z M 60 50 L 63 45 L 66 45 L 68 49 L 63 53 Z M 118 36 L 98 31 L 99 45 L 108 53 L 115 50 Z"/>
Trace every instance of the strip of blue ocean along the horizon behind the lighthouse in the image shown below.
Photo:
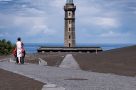
<path fill-rule="evenodd" d="M 77 44 L 77 47 L 101 47 L 104 51 L 105 50 L 111 50 L 111 49 L 116 49 L 116 48 L 121 48 L 121 47 L 126 47 L 126 46 L 131 46 L 134 44 Z M 49 46 L 49 47 L 63 47 L 64 45 L 62 43 L 24 43 L 24 47 L 26 50 L 26 53 L 36 53 L 37 49 L 40 48 L 41 46 Z"/>

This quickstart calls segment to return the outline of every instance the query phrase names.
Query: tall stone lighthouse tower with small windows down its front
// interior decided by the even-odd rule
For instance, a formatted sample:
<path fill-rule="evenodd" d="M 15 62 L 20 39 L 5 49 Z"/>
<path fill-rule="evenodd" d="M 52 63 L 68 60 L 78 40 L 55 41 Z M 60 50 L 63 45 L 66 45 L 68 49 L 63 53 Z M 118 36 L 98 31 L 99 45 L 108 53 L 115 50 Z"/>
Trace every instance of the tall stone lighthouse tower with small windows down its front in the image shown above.
<path fill-rule="evenodd" d="M 65 11 L 65 31 L 64 44 L 65 47 L 75 47 L 75 10 L 76 6 L 73 0 L 67 0 L 64 6 Z"/>

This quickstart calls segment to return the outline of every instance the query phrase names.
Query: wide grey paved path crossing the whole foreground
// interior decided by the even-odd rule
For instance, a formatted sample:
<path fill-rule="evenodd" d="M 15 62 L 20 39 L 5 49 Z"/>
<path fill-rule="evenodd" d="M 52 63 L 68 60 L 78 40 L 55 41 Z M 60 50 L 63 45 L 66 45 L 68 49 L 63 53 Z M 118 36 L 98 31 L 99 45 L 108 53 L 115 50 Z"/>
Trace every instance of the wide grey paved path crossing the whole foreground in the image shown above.
<path fill-rule="evenodd" d="M 18 73 L 44 83 L 43 90 L 55 84 L 56 90 L 136 90 L 136 78 L 103 73 L 85 72 L 36 64 L 17 65 L 10 62 L 0 62 L 0 68 Z"/>

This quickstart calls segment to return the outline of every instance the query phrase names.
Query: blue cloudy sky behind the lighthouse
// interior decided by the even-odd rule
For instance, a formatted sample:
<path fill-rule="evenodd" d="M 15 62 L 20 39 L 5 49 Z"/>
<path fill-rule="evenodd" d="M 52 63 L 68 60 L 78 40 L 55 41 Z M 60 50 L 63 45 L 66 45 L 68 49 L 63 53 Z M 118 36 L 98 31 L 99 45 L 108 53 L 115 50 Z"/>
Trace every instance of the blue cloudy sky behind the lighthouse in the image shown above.
<path fill-rule="evenodd" d="M 63 43 L 66 0 L 0 0 L 0 39 Z M 74 0 L 76 43 L 136 44 L 136 0 Z"/>

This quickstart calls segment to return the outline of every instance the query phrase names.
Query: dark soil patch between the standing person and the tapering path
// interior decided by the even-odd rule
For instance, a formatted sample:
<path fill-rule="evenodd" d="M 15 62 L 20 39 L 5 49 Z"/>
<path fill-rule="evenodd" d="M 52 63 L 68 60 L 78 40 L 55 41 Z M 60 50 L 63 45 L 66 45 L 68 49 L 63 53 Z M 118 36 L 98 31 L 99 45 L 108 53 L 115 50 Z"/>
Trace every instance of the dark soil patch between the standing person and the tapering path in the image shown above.
<path fill-rule="evenodd" d="M 45 60 L 49 66 L 59 66 L 67 53 L 51 52 L 51 53 L 39 53 L 28 54 L 25 58 L 25 62 L 38 64 L 39 58 Z"/>

